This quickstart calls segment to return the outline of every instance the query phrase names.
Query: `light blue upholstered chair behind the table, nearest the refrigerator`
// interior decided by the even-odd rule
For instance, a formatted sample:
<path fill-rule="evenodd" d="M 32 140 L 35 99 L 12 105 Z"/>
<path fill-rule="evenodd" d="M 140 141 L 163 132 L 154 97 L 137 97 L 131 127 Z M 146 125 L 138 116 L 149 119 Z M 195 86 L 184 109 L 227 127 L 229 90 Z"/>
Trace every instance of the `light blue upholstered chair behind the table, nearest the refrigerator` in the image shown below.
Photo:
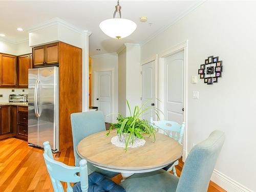
<path fill-rule="evenodd" d="M 76 153 L 76 146 L 84 137 L 106 130 L 103 113 L 101 111 L 73 113 L 71 114 L 71 125 L 75 165 L 79 166 L 81 158 Z M 95 167 L 89 162 L 87 165 L 89 174 L 92 172 L 98 172 L 109 178 L 112 178 L 118 174 L 116 172 L 109 172 L 108 170 Z"/>

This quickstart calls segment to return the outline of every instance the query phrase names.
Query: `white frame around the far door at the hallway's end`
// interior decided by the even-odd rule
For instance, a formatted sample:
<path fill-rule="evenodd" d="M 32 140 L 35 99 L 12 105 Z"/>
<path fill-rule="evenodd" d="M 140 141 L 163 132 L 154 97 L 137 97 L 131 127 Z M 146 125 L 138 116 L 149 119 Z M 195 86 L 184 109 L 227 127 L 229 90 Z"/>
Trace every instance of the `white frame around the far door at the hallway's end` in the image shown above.
<path fill-rule="evenodd" d="M 95 77 L 96 77 L 96 73 L 99 72 L 111 72 L 111 122 L 114 122 L 114 68 L 110 68 L 110 69 L 106 69 L 106 70 L 97 70 L 93 72 L 93 105 L 95 105 Z"/>

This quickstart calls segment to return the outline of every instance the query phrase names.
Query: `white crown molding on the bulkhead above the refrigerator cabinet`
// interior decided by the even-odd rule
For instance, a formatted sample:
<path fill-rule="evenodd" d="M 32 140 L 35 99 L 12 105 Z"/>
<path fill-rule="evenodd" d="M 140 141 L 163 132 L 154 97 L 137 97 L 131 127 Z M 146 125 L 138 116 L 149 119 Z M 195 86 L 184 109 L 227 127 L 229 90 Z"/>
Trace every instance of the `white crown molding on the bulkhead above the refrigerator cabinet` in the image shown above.
<path fill-rule="evenodd" d="M 71 25 L 67 22 L 65 22 L 65 20 L 62 20 L 58 17 L 56 18 L 53 18 L 53 19 L 50 19 L 48 20 L 47 22 L 44 22 L 44 23 L 41 23 L 39 25 L 36 25 L 34 27 L 31 27 L 29 29 L 27 29 L 28 33 L 31 33 L 33 31 L 37 31 L 37 30 L 40 30 L 40 29 L 44 29 L 44 28 L 47 28 L 47 27 L 50 27 L 50 26 L 53 26 L 53 25 L 61 25 L 63 27 L 66 27 L 70 30 L 73 30 L 81 35 L 88 35 L 90 36 L 92 34 L 92 32 L 88 31 L 88 30 L 81 30 L 79 28 L 77 28 L 76 26 L 74 25 Z"/>

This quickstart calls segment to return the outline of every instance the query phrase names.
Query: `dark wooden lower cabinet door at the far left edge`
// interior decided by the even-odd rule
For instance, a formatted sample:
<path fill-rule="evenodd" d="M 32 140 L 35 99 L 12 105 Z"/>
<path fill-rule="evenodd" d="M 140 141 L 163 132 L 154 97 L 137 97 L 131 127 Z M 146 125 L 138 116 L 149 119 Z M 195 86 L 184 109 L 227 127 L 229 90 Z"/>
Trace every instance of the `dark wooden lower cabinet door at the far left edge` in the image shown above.
<path fill-rule="evenodd" d="M 1 106 L 1 133 L 11 133 L 10 106 Z"/>

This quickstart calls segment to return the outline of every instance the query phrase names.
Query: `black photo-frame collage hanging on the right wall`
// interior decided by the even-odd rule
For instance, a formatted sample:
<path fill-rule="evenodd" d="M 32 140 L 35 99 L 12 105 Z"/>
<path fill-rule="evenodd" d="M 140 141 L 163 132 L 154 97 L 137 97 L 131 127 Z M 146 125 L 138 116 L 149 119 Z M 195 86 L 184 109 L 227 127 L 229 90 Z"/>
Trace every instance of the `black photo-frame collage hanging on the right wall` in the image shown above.
<path fill-rule="evenodd" d="M 198 74 L 200 79 L 204 79 L 204 83 L 213 84 L 218 82 L 218 78 L 222 76 L 223 66 L 219 56 L 209 56 L 204 60 L 204 64 L 200 65 Z"/>

